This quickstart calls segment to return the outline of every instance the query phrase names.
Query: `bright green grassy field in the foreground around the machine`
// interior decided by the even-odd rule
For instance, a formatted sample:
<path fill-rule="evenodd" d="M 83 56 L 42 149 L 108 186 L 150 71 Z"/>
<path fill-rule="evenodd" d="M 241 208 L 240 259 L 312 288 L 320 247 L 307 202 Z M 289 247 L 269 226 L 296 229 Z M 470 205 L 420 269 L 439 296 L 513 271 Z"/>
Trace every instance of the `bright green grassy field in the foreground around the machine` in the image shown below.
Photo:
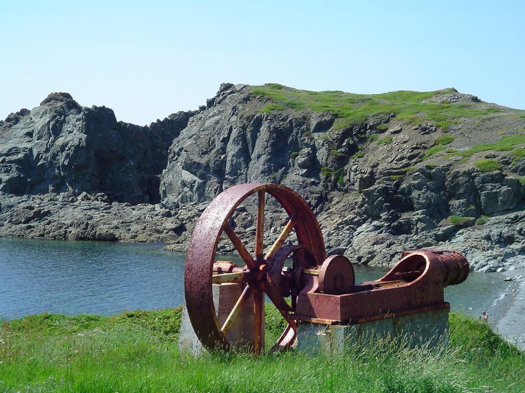
<path fill-rule="evenodd" d="M 180 309 L 111 317 L 40 314 L 4 322 L 2 392 L 523 392 L 525 354 L 487 324 L 450 315 L 450 346 L 377 341 L 340 355 L 177 351 Z M 268 341 L 281 329 L 268 310 Z"/>

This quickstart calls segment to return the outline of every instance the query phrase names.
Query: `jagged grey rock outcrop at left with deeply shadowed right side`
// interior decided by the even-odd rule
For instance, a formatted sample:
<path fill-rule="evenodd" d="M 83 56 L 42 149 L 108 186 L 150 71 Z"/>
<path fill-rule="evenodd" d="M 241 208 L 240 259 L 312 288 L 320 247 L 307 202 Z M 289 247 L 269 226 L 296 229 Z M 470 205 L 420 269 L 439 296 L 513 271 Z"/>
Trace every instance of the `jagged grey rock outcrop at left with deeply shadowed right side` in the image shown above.
<path fill-rule="evenodd" d="M 118 123 L 104 106 L 81 107 L 68 93 L 51 93 L 0 125 L 0 191 L 103 192 L 114 201 L 159 202 L 167 148 L 190 115 L 139 127 Z"/>

